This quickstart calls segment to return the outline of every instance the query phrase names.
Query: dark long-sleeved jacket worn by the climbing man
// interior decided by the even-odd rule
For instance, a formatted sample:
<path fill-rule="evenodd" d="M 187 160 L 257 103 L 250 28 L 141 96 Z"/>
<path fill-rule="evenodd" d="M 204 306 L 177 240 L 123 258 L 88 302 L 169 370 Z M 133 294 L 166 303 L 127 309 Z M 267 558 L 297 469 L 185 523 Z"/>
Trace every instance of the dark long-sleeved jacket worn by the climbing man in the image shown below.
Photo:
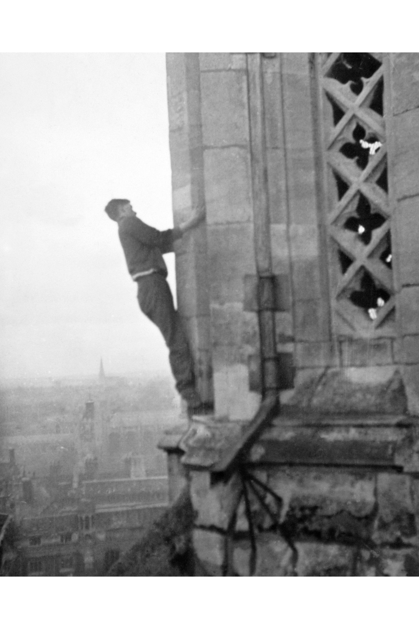
<path fill-rule="evenodd" d="M 118 221 L 118 234 L 131 276 L 155 269 L 167 277 L 162 254 L 173 251 L 173 242 L 182 236 L 178 228 L 158 231 L 136 216 L 126 216 Z"/>

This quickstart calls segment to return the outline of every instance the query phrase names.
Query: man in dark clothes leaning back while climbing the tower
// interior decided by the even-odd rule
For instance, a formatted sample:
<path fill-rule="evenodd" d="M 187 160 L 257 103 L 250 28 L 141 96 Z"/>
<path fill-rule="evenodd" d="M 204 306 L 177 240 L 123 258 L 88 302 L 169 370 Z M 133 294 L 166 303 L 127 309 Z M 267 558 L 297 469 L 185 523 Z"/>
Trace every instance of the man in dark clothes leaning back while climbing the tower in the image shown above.
<path fill-rule="evenodd" d="M 195 389 L 193 360 L 182 321 L 173 306 L 166 281 L 167 267 L 163 253 L 173 251 L 173 242 L 197 227 L 205 218 L 204 206 L 195 209 L 192 218 L 171 230 L 158 231 L 143 223 L 128 199 L 112 199 L 105 211 L 118 224 L 119 240 L 128 272 L 138 285 L 139 308 L 161 331 L 169 349 L 171 371 L 176 388 L 187 403 L 188 415 L 209 410 Z"/>

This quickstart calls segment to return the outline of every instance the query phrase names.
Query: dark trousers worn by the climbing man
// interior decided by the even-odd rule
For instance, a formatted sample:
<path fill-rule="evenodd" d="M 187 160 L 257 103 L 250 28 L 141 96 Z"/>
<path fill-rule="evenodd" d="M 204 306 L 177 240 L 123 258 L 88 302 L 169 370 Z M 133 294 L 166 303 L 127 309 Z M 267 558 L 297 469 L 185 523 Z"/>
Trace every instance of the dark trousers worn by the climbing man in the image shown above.
<path fill-rule="evenodd" d="M 193 360 L 182 321 L 173 305 L 173 297 L 165 277 L 159 273 L 139 277 L 138 303 L 144 315 L 155 323 L 169 348 L 170 367 L 176 388 L 182 398 L 190 401 L 196 396 Z"/>

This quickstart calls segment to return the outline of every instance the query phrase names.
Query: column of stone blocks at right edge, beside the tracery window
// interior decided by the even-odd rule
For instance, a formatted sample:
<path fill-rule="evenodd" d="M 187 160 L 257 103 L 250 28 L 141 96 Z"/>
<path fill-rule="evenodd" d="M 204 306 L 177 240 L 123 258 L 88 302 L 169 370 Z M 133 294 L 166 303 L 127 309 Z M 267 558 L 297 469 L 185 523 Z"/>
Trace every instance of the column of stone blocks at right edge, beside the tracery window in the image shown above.
<path fill-rule="evenodd" d="M 417 308 L 419 272 L 417 242 L 419 239 L 419 99 L 417 94 L 417 53 L 390 55 L 393 117 L 394 194 L 396 198 L 396 237 L 393 242 L 398 262 L 398 347 L 396 359 L 406 387 L 408 410 L 419 413 L 419 334 Z"/>

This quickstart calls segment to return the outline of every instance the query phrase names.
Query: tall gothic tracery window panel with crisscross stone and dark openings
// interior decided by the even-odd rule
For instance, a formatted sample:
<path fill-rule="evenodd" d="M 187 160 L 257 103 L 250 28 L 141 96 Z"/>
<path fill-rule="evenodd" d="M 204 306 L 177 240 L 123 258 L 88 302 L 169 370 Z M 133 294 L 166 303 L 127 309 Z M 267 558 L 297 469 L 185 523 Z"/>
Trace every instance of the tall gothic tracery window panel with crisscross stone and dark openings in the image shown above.
<path fill-rule="evenodd" d="M 327 239 L 336 333 L 392 334 L 395 289 L 383 56 L 320 53 Z"/>

